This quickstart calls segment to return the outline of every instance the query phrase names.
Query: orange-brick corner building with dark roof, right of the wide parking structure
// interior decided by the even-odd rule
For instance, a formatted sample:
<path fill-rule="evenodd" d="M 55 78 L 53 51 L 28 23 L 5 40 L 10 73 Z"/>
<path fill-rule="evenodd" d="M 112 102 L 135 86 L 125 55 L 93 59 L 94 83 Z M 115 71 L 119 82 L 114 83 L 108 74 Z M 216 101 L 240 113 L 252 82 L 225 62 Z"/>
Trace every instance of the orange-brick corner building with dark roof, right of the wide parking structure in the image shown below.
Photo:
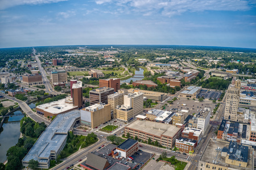
<path fill-rule="evenodd" d="M 175 147 L 180 152 L 193 154 L 193 152 L 195 151 L 196 143 L 196 140 L 180 137 L 179 139 L 176 139 Z"/>

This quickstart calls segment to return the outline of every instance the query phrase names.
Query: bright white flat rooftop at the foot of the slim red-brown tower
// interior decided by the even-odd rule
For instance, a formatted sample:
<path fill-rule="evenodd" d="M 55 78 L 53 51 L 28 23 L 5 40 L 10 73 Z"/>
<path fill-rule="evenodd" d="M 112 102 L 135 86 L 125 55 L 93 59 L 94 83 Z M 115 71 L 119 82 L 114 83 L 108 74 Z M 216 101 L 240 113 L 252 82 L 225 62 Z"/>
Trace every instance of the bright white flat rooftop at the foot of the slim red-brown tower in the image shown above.
<path fill-rule="evenodd" d="M 36 108 L 42 109 L 48 113 L 59 114 L 63 112 L 67 112 L 71 109 L 77 108 L 77 106 L 73 106 L 73 103 L 65 102 L 66 99 L 61 99 L 57 101 L 52 101 L 50 103 L 38 105 Z"/>

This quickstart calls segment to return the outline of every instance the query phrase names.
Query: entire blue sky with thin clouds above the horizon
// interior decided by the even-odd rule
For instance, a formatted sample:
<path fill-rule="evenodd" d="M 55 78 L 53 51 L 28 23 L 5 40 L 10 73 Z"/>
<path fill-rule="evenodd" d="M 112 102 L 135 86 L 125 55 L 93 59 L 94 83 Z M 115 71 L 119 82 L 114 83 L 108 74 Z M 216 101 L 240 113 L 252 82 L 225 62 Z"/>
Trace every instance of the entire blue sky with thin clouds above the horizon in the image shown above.
<path fill-rule="evenodd" d="M 105 44 L 256 48 L 256 1 L 0 0 L 0 48 Z"/>

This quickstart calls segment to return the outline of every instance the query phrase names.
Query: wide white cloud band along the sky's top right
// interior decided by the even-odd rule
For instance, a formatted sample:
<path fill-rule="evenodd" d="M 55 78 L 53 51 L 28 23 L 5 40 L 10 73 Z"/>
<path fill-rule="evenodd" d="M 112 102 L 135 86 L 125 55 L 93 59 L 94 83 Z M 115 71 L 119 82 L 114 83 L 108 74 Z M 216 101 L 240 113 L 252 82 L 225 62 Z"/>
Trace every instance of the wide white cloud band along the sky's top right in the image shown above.
<path fill-rule="evenodd" d="M 111 3 L 143 12 L 144 16 L 161 12 L 162 15 L 180 15 L 186 11 L 245 11 L 250 2 L 243 0 L 95 0 L 98 5 Z"/>

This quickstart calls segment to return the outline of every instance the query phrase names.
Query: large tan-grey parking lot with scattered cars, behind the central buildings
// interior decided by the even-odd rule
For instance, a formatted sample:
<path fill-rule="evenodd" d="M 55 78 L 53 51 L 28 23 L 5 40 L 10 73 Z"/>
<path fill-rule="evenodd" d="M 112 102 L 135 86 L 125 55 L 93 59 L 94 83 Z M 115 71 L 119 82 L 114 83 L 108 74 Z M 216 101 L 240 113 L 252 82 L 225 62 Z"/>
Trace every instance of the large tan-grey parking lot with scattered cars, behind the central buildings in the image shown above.
<path fill-rule="evenodd" d="M 201 101 L 199 102 L 198 99 L 192 100 L 192 99 L 178 99 L 175 100 L 174 103 L 168 104 L 166 106 L 166 111 L 173 111 L 177 112 L 179 110 L 187 110 L 188 114 L 193 114 L 193 113 L 199 113 L 204 110 L 204 108 L 210 108 L 210 111 L 213 111 L 215 107 L 215 104 L 212 103 L 212 101 Z"/>

